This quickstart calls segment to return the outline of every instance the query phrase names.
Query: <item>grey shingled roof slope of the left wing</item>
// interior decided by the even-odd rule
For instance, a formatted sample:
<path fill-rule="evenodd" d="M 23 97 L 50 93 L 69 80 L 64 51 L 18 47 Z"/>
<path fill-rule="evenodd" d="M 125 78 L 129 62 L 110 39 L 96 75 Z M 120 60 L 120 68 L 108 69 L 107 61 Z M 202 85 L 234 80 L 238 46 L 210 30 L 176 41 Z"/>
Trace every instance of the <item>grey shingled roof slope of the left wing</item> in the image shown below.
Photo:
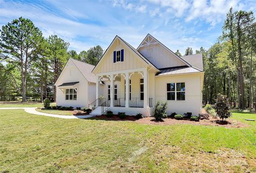
<path fill-rule="evenodd" d="M 75 64 L 75 66 L 83 74 L 83 76 L 85 77 L 85 79 L 88 82 L 93 82 L 93 83 L 96 82 L 96 77 L 92 73 L 94 65 L 87 64 L 87 63 L 81 62 L 81 61 L 73 59 L 73 58 L 70 58 L 70 60 Z"/>

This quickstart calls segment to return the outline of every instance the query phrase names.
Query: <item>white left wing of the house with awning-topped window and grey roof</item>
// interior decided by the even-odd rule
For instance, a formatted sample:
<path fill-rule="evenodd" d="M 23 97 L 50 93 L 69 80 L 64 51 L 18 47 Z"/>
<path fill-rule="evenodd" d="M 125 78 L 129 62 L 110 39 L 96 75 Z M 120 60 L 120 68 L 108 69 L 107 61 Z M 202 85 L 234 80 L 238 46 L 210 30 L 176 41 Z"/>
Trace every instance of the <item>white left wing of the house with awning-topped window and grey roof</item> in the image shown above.
<path fill-rule="evenodd" d="M 95 100 L 96 80 L 91 73 L 93 68 L 94 65 L 68 59 L 54 84 L 57 88 L 57 106 L 88 107 Z"/>

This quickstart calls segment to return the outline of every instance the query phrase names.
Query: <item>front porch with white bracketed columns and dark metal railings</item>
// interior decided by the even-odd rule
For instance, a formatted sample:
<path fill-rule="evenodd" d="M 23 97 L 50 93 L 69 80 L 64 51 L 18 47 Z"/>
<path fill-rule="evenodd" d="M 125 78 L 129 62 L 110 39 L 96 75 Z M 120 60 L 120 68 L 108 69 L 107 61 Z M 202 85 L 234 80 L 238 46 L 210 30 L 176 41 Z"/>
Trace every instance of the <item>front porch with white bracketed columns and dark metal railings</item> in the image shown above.
<path fill-rule="evenodd" d="M 149 98 L 148 78 L 147 68 L 97 74 L 96 100 L 98 101 L 94 102 L 95 107 L 101 106 L 102 113 L 107 108 L 122 112 L 126 110 L 129 111 L 126 112 L 127 115 L 132 114 L 132 108 L 149 110 L 154 103 L 153 98 Z M 140 113 L 141 111 L 138 110 L 137 112 Z"/>

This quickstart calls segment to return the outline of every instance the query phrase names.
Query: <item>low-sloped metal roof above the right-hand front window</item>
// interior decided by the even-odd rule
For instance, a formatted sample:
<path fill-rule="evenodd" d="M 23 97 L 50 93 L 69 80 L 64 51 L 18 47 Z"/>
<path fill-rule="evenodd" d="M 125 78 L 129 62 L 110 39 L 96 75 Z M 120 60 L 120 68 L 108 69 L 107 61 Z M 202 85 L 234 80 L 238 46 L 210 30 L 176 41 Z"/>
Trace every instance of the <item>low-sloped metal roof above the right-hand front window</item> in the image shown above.
<path fill-rule="evenodd" d="M 199 70 L 195 67 L 188 67 L 186 65 L 185 66 L 178 66 L 178 67 L 160 68 L 159 70 L 161 72 L 158 73 L 156 76 L 203 72 L 202 70 Z"/>

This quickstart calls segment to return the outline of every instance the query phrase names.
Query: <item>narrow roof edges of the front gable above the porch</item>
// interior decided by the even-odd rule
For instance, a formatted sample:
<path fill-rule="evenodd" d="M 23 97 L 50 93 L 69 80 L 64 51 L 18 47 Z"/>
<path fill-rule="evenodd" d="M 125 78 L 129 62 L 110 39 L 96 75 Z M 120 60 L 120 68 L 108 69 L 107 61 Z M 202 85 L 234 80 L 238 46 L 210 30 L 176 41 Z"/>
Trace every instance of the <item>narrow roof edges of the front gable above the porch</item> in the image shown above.
<path fill-rule="evenodd" d="M 110 46 L 113 45 L 113 43 L 114 43 L 114 41 L 115 41 L 116 39 L 121 40 L 121 41 L 123 42 L 123 44 L 126 45 L 127 47 L 129 47 L 132 51 L 134 51 L 134 53 L 137 54 L 137 55 L 143 60 L 143 62 L 145 62 L 145 63 L 148 64 L 148 65 L 153 66 L 153 67 L 158 71 L 158 68 L 157 68 L 154 64 L 150 63 L 149 60 L 148 60 L 146 57 L 144 57 L 137 49 L 135 49 L 134 47 L 132 47 L 129 43 L 127 43 L 126 41 L 124 41 L 124 39 L 122 39 L 121 37 L 119 37 L 119 36 L 117 36 L 117 35 L 116 35 L 116 37 L 112 40 L 111 44 L 108 46 L 108 48 L 107 48 L 107 50 L 105 51 L 105 53 L 101 56 L 99 62 L 95 65 L 95 67 L 97 67 L 97 65 L 101 62 L 102 58 L 104 57 L 104 55 L 106 54 L 106 52 L 109 50 Z M 94 71 L 95 67 L 93 68 L 92 72 Z"/>

